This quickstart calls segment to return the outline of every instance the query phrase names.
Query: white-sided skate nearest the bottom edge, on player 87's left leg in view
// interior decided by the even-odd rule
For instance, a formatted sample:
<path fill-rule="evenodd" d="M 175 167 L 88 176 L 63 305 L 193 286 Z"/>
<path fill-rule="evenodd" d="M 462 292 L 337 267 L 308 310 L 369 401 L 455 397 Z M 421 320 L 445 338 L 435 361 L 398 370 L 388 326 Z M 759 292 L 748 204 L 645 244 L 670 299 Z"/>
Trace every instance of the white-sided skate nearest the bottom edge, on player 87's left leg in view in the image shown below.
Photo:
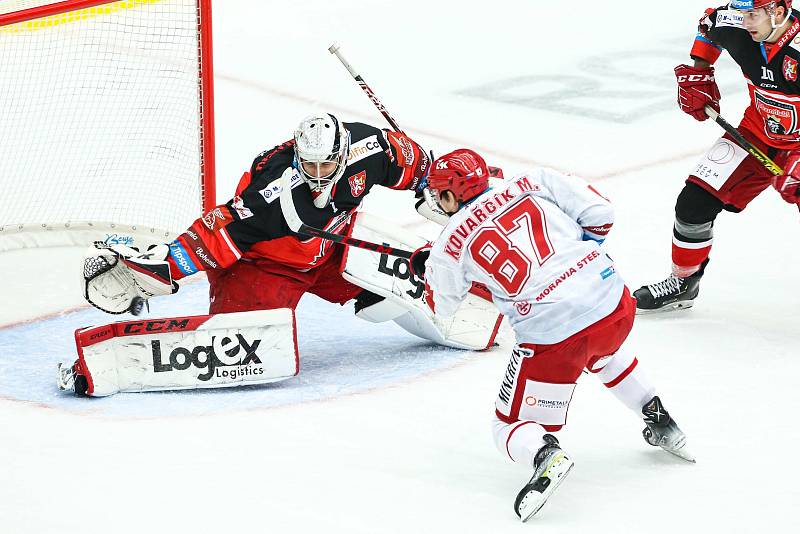
<path fill-rule="evenodd" d="M 545 445 L 533 460 L 533 476 L 514 501 L 514 511 L 523 522 L 542 509 L 574 465 L 561 450 L 555 436 L 545 434 L 544 441 Z"/>

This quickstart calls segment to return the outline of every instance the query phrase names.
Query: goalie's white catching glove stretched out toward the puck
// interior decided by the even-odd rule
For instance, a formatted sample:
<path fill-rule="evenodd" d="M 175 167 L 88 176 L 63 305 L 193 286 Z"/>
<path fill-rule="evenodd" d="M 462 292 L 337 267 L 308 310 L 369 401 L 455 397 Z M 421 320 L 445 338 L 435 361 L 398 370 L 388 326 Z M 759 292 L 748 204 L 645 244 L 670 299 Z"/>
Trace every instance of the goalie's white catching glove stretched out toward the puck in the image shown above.
<path fill-rule="evenodd" d="M 172 281 L 167 245 L 153 245 L 146 252 L 125 245 L 96 241 L 83 261 L 83 296 L 106 313 L 141 312 L 150 297 L 178 291 Z"/>

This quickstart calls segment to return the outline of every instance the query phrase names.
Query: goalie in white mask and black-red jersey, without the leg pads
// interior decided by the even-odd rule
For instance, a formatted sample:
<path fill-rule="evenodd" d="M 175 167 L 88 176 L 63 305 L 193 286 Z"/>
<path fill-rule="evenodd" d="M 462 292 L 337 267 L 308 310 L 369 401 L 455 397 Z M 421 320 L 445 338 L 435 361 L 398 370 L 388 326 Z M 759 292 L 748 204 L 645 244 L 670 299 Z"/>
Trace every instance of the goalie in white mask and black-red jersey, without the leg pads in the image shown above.
<path fill-rule="evenodd" d="M 341 276 L 344 246 L 289 228 L 279 200 L 283 184 L 290 184 L 306 224 L 344 234 L 373 186 L 420 192 L 429 167 L 425 150 L 402 132 L 343 123 L 328 113 L 306 117 L 293 139 L 256 157 L 233 198 L 172 243 L 143 254 L 143 261 L 160 262 L 163 271 L 153 282 L 158 287 L 145 293 L 172 293 L 176 280 L 205 271 L 211 314 L 294 309 L 305 293 L 344 304 L 365 293 Z M 135 251 L 118 252 L 134 271 L 153 271 L 130 257 Z M 120 302 L 109 301 L 115 295 L 122 295 Z M 125 298 L 120 291 L 92 297 L 87 290 L 87 300 L 111 313 L 127 311 Z"/>

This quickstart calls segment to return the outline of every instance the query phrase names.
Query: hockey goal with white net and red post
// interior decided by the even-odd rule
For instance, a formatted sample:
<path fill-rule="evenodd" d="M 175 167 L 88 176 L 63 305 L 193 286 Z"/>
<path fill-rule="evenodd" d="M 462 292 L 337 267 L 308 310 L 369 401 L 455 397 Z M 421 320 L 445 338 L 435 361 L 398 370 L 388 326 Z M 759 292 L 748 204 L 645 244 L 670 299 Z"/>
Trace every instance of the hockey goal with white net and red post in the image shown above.
<path fill-rule="evenodd" d="M 214 206 L 210 0 L 0 0 L 0 251 Z"/>

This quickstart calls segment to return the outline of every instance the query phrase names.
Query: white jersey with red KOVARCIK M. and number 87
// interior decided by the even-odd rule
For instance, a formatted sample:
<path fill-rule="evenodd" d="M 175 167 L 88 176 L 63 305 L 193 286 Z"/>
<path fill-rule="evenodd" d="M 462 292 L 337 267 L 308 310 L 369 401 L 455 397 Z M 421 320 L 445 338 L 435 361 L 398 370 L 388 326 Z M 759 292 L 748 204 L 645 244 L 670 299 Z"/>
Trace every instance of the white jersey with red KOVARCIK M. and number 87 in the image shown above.
<path fill-rule="evenodd" d="M 613 219 L 580 178 L 536 169 L 508 179 L 442 230 L 426 264 L 429 302 L 449 316 L 484 284 L 519 343 L 562 341 L 620 302 L 625 284 L 599 246 Z"/>

